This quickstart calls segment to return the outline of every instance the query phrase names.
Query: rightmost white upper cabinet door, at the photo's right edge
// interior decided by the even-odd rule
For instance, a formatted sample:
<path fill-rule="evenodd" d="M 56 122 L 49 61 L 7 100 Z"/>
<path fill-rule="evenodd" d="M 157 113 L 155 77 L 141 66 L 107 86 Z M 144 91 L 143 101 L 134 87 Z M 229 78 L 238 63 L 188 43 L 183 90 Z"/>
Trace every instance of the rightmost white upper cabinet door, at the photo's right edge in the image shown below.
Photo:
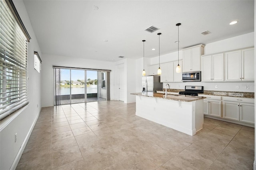
<path fill-rule="evenodd" d="M 242 81 L 254 81 L 254 48 L 242 50 Z"/>

